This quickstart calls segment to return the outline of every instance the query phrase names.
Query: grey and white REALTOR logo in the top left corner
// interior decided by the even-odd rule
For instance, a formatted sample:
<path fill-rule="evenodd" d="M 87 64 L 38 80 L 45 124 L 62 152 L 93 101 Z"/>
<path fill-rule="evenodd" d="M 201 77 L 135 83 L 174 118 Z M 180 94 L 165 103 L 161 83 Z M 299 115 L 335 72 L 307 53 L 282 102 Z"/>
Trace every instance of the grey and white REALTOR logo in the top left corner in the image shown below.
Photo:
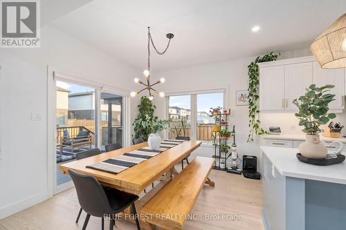
<path fill-rule="evenodd" d="M 39 2 L 1 0 L 1 48 L 39 47 Z"/>

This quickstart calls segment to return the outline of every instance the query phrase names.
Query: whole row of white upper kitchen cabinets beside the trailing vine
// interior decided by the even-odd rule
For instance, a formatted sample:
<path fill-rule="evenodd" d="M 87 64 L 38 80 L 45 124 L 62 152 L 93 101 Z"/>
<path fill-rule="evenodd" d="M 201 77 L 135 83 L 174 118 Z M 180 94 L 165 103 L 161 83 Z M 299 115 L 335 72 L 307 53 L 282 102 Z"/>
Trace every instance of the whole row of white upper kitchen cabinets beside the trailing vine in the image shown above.
<path fill-rule="evenodd" d="M 334 113 L 341 113 L 345 108 L 345 68 L 322 69 L 313 56 L 268 61 L 258 65 L 260 111 L 297 111 L 293 99 L 304 95 L 305 88 L 311 84 L 334 85 L 331 93 L 336 97 L 329 108 Z"/>

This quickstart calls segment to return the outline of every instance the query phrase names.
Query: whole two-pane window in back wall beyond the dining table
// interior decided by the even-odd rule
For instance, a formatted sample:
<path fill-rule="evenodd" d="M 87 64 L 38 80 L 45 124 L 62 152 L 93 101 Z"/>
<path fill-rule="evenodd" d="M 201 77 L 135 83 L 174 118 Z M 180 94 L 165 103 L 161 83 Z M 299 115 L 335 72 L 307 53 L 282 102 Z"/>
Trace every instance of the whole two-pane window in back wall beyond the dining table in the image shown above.
<path fill-rule="evenodd" d="M 224 107 L 223 92 L 168 97 L 169 137 L 180 135 L 192 140 L 210 140 L 215 120 L 209 117 L 209 111 L 217 106 Z"/>

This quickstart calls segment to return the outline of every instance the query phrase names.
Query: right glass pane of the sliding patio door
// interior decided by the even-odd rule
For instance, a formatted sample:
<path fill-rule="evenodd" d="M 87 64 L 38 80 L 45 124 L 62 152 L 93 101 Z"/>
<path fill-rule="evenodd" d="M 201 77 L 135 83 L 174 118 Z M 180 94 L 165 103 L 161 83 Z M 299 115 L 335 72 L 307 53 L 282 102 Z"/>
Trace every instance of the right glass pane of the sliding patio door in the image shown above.
<path fill-rule="evenodd" d="M 122 145 L 122 96 L 101 93 L 101 148 L 107 144 Z"/>

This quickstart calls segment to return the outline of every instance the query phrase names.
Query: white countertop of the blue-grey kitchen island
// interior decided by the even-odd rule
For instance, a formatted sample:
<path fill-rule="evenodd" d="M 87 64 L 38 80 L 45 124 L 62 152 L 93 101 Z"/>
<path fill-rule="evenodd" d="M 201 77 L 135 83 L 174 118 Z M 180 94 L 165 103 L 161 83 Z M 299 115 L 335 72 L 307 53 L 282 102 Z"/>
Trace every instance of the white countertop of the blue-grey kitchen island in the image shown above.
<path fill-rule="evenodd" d="M 261 146 L 261 151 L 284 176 L 346 184 L 346 161 L 340 164 L 317 166 L 300 162 L 295 156 L 299 152 L 298 148 Z"/>

